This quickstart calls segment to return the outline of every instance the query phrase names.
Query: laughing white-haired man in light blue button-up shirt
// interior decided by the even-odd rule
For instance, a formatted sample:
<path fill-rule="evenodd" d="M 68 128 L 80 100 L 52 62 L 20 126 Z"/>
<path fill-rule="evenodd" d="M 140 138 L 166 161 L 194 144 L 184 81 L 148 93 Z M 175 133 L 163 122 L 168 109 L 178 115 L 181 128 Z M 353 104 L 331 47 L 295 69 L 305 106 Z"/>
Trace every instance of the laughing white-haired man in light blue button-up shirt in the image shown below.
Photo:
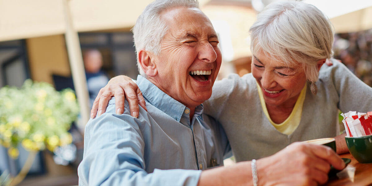
<path fill-rule="evenodd" d="M 327 180 L 329 164 L 344 167 L 330 148 L 299 143 L 257 163 L 217 167 L 230 145 L 201 105 L 221 65 L 208 17 L 195 0 L 156 0 L 133 32 L 148 112 L 132 117 L 125 102 L 116 114 L 112 99 L 88 122 L 79 185 L 314 185 Z"/>

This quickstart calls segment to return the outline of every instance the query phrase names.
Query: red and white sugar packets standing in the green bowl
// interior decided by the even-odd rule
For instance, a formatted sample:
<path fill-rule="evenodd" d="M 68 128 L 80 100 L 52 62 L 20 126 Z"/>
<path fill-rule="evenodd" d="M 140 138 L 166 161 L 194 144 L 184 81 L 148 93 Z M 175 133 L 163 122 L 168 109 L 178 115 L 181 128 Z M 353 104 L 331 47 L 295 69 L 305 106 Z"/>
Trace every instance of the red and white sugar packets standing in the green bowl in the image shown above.
<path fill-rule="evenodd" d="M 372 135 L 372 112 L 361 113 L 349 111 L 341 113 L 342 120 L 348 137 L 362 137 Z"/>

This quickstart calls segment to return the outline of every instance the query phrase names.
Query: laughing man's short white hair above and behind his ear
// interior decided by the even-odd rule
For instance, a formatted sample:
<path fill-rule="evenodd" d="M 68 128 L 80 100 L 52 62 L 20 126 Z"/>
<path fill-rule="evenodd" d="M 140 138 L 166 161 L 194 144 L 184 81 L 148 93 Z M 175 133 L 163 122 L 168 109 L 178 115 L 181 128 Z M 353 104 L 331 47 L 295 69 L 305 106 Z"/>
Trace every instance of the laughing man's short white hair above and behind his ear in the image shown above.
<path fill-rule="evenodd" d="M 132 29 L 137 55 L 142 49 L 155 55 L 160 53 L 161 40 L 168 31 L 161 13 L 173 7 L 199 8 L 199 2 L 198 0 L 155 0 L 147 5 Z M 140 74 L 146 76 L 138 64 L 138 57 L 137 67 Z"/>

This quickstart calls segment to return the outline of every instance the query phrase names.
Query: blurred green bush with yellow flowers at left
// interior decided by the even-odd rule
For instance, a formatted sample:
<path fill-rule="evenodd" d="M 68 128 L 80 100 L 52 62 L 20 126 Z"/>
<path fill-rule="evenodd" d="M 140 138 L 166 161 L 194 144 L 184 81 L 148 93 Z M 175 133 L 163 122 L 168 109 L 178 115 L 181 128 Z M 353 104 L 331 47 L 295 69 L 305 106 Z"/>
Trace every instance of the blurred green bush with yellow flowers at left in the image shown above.
<path fill-rule="evenodd" d="M 23 86 L 0 89 L 0 143 L 8 154 L 17 158 L 17 146 L 28 151 L 58 146 L 72 142 L 68 133 L 71 123 L 79 113 L 76 96 L 71 89 L 57 92 L 44 82 L 26 80 Z"/>

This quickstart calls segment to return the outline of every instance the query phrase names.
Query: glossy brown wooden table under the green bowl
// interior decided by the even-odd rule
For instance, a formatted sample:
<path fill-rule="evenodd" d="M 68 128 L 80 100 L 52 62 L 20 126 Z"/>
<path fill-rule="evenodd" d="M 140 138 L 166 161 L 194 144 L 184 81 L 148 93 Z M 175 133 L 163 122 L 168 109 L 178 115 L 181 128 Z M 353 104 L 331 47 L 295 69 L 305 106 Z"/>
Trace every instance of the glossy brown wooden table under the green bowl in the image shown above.
<path fill-rule="evenodd" d="M 337 176 L 330 177 L 325 185 L 348 186 L 348 185 L 372 185 L 372 163 L 358 163 L 355 158 L 347 153 L 340 155 L 341 158 L 349 158 L 351 162 L 347 167 L 337 173 Z"/>

